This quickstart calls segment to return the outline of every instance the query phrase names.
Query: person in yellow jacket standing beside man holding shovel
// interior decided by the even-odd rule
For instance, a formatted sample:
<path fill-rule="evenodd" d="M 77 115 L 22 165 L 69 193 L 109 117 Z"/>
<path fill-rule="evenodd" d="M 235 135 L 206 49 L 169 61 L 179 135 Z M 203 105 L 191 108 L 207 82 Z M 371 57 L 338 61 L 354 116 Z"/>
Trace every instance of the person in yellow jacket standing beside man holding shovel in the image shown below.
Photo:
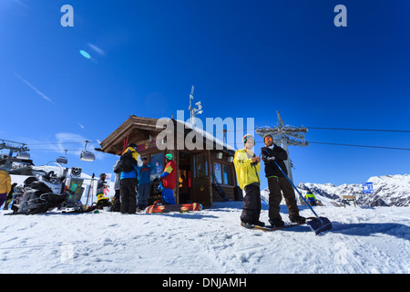
<path fill-rule="evenodd" d="M 243 139 L 245 148 L 235 152 L 233 164 L 235 165 L 238 183 L 245 191 L 243 197 L 241 225 L 252 228 L 252 225 L 264 226 L 259 220 L 261 215 L 261 158 L 251 150 L 255 139 L 251 134 L 246 134 Z"/>

